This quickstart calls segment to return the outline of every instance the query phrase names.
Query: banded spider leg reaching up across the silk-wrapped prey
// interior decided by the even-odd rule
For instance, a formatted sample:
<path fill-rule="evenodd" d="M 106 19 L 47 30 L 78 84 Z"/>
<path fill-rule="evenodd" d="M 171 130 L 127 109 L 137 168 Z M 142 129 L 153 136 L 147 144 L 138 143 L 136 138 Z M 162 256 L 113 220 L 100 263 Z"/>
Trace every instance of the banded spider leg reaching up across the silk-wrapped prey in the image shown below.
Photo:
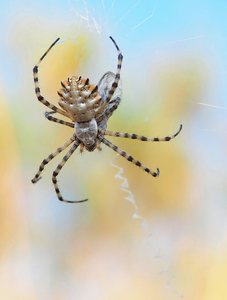
<path fill-rule="evenodd" d="M 119 83 L 119 80 L 120 80 L 120 73 L 121 73 L 121 65 L 122 65 L 123 55 L 122 55 L 121 50 L 119 49 L 117 43 L 115 42 L 115 40 L 111 36 L 110 36 L 110 39 L 114 43 L 114 45 L 115 45 L 115 47 L 118 51 L 117 71 L 116 71 L 116 74 L 115 74 L 114 82 L 112 83 L 112 87 L 108 92 L 108 96 L 107 96 L 105 102 L 103 103 L 103 105 L 98 110 L 97 114 L 100 114 L 105 110 L 105 108 L 108 105 L 108 103 L 110 102 L 116 88 L 118 87 L 118 83 Z"/>

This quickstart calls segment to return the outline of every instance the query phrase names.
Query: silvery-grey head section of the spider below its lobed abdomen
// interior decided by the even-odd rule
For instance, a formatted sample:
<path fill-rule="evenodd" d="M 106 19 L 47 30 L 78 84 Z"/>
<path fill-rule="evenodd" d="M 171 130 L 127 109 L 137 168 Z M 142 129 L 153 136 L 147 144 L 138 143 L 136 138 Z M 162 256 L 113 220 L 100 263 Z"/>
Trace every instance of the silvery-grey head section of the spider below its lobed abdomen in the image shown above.
<path fill-rule="evenodd" d="M 76 122 L 74 125 L 76 137 L 82 142 L 88 151 L 93 151 L 96 148 L 98 135 L 98 126 L 93 118 L 88 122 Z"/>

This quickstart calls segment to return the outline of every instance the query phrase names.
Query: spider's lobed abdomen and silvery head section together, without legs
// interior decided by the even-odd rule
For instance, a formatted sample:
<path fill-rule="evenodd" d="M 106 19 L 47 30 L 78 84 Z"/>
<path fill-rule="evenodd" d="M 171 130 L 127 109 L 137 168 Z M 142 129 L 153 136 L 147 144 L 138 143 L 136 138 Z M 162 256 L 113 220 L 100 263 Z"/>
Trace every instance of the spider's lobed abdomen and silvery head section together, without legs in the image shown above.
<path fill-rule="evenodd" d="M 75 135 L 88 151 L 96 148 L 98 125 L 95 117 L 102 109 L 102 97 L 98 93 L 97 85 L 90 85 L 89 79 L 81 77 L 69 78 L 61 82 L 58 91 L 58 104 L 66 111 L 69 118 L 75 122 Z"/>

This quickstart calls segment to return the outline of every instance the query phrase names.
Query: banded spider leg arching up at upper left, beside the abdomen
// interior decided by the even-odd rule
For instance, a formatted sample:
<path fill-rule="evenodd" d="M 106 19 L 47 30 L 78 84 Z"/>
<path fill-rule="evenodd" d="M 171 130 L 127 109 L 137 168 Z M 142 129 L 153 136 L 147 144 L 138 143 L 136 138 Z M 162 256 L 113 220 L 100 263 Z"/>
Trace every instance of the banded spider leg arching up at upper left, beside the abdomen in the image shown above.
<path fill-rule="evenodd" d="M 44 105 L 46 105 L 47 107 L 49 107 L 50 109 L 52 109 L 55 112 L 58 112 L 59 114 L 62 114 L 64 116 L 67 117 L 67 114 L 61 110 L 60 108 L 58 108 L 57 106 L 51 104 L 49 101 L 47 101 L 40 92 L 40 87 L 39 87 L 39 78 L 38 78 L 38 71 L 39 71 L 39 65 L 42 62 L 42 60 L 44 59 L 44 57 L 47 55 L 47 53 L 51 50 L 51 48 L 59 41 L 59 38 L 56 39 L 56 41 L 47 49 L 47 51 L 42 55 L 42 57 L 40 58 L 40 60 L 38 61 L 38 63 L 35 65 L 35 67 L 33 68 L 33 76 L 34 76 L 34 83 L 35 83 L 35 93 L 36 93 L 36 97 L 37 99 L 43 103 Z"/>

